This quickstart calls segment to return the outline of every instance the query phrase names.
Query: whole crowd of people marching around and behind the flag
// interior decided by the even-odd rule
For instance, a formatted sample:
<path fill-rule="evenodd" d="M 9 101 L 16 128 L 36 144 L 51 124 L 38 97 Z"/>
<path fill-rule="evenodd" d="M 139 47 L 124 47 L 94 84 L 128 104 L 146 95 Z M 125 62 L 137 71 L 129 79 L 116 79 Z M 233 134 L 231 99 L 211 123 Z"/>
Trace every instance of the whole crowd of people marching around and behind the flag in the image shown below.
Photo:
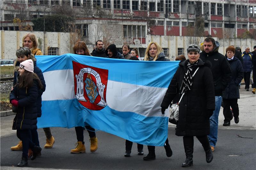
<path fill-rule="evenodd" d="M 17 166 L 28 165 L 28 159 L 34 160 L 41 156 L 37 134 L 37 117 L 41 117 L 42 94 L 45 91 L 44 76 L 36 66 L 35 55 L 43 55 L 37 48 L 36 35 L 28 33 L 22 39 L 22 47 L 16 51 L 13 88 L 10 93 L 10 103 L 16 116 L 12 129 L 17 130 L 20 142 L 11 147 L 11 150 L 22 150 L 22 158 Z M 218 139 L 218 117 L 220 107 L 223 107 L 224 124 L 229 126 L 234 117 L 235 123 L 239 122 L 239 88 L 244 78 L 245 90 L 249 91 L 251 72 L 253 75 L 252 93 L 255 94 L 256 86 L 256 46 L 251 53 L 246 47 L 242 53 L 240 47 L 229 46 L 226 55 L 218 52 L 220 43 L 213 38 L 206 38 L 199 46 L 191 44 L 187 48 L 187 56 L 179 55 L 180 61 L 170 85 L 161 103 L 161 112 L 170 105 L 179 101 L 179 121 L 176 126 L 176 135 L 183 136 L 186 159 L 182 167 L 193 165 L 194 136 L 202 144 L 207 163 L 212 162 L 213 153 Z M 116 45 L 111 44 L 106 49 L 103 42 L 98 40 L 95 49 L 90 53 L 84 41 L 78 41 L 73 47 L 74 54 L 91 55 L 95 57 L 144 60 L 144 61 L 170 61 L 164 55 L 157 42 L 150 42 L 142 59 L 137 48 L 130 50 L 125 44 L 123 54 L 118 52 Z M 200 53 L 201 51 L 201 53 Z M 230 109 L 231 108 L 231 109 Z M 55 142 L 50 128 L 43 128 L 46 136 L 44 148 L 52 148 Z M 84 153 L 84 129 L 89 133 L 90 152 L 98 149 L 98 139 L 95 129 L 90 125 L 75 127 L 77 143 L 71 153 Z M 168 130 L 168 129 L 166 129 Z M 168 138 L 163 141 L 166 156 L 172 156 Z M 143 145 L 137 144 L 138 155 L 144 155 Z M 124 157 L 130 157 L 132 141 L 125 141 Z M 156 159 L 155 146 L 148 146 L 148 154 L 144 160 Z"/>

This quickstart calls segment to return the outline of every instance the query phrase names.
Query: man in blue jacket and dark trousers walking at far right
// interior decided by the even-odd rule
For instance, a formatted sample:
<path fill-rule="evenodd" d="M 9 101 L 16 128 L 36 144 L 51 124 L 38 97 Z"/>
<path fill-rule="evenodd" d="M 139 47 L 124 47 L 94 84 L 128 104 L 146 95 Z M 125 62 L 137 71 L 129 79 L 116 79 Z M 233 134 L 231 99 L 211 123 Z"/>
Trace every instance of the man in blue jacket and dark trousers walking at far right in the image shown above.
<path fill-rule="evenodd" d="M 243 69 L 244 69 L 244 82 L 246 91 L 250 88 L 250 77 L 252 72 L 252 54 L 250 53 L 250 47 L 245 47 L 245 51 L 242 54 L 243 57 Z"/>

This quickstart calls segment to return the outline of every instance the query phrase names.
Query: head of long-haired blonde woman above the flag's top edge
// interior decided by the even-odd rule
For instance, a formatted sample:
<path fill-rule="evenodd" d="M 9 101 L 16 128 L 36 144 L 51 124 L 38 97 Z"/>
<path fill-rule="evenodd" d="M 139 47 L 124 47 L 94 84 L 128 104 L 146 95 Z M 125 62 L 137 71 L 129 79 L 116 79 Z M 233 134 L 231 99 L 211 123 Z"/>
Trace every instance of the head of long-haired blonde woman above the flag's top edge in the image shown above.
<path fill-rule="evenodd" d="M 162 50 L 157 42 L 150 42 L 145 52 L 144 61 L 170 61 L 165 58 Z"/>

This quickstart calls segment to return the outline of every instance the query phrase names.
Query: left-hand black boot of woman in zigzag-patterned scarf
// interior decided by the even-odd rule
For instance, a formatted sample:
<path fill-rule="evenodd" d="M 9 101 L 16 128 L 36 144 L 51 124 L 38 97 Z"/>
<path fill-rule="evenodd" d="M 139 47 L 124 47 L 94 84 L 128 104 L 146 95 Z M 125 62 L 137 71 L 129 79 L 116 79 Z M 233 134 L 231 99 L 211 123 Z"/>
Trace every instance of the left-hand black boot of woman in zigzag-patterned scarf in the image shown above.
<path fill-rule="evenodd" d="M 193 137 L 183 137 L 183 144 L 186 153 L 186 160 L 184 163 L 182 163 L 182 167 L 189 167 L 193 165 Z"/>

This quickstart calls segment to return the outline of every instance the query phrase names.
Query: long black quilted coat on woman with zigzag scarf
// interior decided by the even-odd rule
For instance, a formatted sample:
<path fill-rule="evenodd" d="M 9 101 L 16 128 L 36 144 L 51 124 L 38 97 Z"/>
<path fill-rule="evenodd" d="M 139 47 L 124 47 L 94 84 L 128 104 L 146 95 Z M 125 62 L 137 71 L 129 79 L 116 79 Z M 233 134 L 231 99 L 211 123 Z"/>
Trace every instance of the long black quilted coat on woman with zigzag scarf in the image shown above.
<path fill-rule="evenodd" d="M 187 71 L 188 60 L 181 62 L 165 93 L 161 107 L 168 108 L 176 93 L 180 93 L 182 79 Z M 177 136 L 201 136 L 210 133 L 209 118 L 215 109 L 214 86 L 210 62 L 199 59 L 192 84 L 192 90 L 186 92 L 180 102 Z M 197 66 L 193 68 L 195 72 Z M 180 94 L 181 97 L 181 94 Z M 210 114 L 211 113 L 211 114 Z"/>

